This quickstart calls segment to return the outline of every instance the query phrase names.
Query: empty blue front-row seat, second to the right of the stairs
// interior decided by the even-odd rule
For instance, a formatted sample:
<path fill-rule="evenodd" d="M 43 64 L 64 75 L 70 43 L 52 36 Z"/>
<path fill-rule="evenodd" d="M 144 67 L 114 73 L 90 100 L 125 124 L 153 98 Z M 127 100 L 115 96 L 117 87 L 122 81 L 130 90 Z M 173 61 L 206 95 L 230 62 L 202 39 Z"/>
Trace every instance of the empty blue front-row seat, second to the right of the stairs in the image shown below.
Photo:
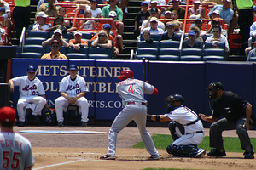
<path fill-rule="evenodd" d="M 178 61 L 180 52 L 178 48 L 160 48 L 158 60 Z"/>

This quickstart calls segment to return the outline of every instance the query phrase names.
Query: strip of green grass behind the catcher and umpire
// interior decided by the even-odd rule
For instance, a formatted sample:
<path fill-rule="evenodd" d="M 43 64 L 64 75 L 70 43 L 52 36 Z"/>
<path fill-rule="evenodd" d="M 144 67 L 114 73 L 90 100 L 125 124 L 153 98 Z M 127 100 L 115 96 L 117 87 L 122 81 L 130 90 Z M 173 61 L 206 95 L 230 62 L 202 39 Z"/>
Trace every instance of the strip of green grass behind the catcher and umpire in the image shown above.
<path fill-rule="evenodd" d="M 152 139 L 154 141 L 154 145 L 156 149 L 160 150 L 166 150 L 166 147 L 169 144 L 172 144 L 172 136 L 168 134 L 154 134 L 152 136 Z M 237 138 L 232 137 L 224 137 L 224 149 L 226 152 L 244 152 L 244 150 L 241 150 L 241 144 L 240 140 Z M 256 138 L 251 138 L 251 143 L 256 143 Z M 139 142 L 132 146 L 132 148 L 145 148 L 143 142 Z M 207 151 L 210 151 L 211 148 L 209 147 L 209 137 L 205 136 L 203 142 L 198 145 L 198 148 L 205 149 Z M 148 169 L 147 169 L 148 170 Z M 158 169 L 160 170 L 160 169 Z"/>

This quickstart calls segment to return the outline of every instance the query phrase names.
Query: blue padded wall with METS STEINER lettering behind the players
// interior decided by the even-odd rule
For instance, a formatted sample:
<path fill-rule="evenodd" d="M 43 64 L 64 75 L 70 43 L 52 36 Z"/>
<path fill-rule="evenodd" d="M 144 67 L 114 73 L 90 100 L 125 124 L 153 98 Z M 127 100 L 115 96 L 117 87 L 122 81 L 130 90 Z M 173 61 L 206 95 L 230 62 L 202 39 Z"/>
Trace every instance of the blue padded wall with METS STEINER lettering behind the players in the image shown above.
<path fill-rule="evenodd" d="M 94 59 L 13 59 L 12 77 L 26 75 L 28 65 L 37 68 L 37 77 L 43 82 L 48 104 L 54 106 L 60 96 L 61 79 L 67 76 L 68 65 L 79 66 L 79 75 L 89 87 L 85 97 L 89 101 L 89 116 L 97 121 L 112 121 L 121 111 L 122 103 L 116 93 L 119 73 L 130 68 L 137 79 L 143 80 L 140 60 L 94 60 Z M 223 82 L 226 91 L 233 91 L 252 105 L 256 104 L 256 71 L 254 63 L 246 62 L 147 62 L 147 79 L 158 90 L 148 95 L 148 114 L 166 113 L 165 99 L 170 94 L 182 94 L 187 105 L 196 113 L 211 115 L 207 85 Z M 18 88 L 13 95 L 14 105 L 19 98 Z M 89 118 L 90 118 L 89 117 Z"/>

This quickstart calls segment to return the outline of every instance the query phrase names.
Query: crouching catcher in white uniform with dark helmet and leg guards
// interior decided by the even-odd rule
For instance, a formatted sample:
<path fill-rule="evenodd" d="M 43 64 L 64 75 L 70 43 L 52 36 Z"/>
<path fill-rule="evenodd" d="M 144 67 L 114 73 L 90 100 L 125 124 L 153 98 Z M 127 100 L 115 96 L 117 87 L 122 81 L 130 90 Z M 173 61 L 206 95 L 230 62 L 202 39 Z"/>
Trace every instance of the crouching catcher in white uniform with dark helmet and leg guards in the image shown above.
<path fill-rule="evenodd" d="M 174 156 L 201 157 L 206 150 L 198 149 L 204 139 L 204 127 L 194 111 L 183 106 L 183 96 L 170 95 L 166 98 L 167 113 L 165 115 L 148 115 L 153 121 L 169 123 L 173 143 L 166 151 Z"/>

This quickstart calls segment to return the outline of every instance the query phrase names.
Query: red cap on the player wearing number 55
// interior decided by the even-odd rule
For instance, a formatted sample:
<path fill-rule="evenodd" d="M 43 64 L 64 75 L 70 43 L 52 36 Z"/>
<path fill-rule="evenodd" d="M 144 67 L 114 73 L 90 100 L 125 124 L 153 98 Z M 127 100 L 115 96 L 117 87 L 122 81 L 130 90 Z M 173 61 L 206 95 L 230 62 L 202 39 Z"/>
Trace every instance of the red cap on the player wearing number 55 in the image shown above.
<path fill-rule="evenodd" d="M 0 121 L 1 122 L 15 122 L 16 111 L 9 106 L 3 106 L 0 109 Z"/>

